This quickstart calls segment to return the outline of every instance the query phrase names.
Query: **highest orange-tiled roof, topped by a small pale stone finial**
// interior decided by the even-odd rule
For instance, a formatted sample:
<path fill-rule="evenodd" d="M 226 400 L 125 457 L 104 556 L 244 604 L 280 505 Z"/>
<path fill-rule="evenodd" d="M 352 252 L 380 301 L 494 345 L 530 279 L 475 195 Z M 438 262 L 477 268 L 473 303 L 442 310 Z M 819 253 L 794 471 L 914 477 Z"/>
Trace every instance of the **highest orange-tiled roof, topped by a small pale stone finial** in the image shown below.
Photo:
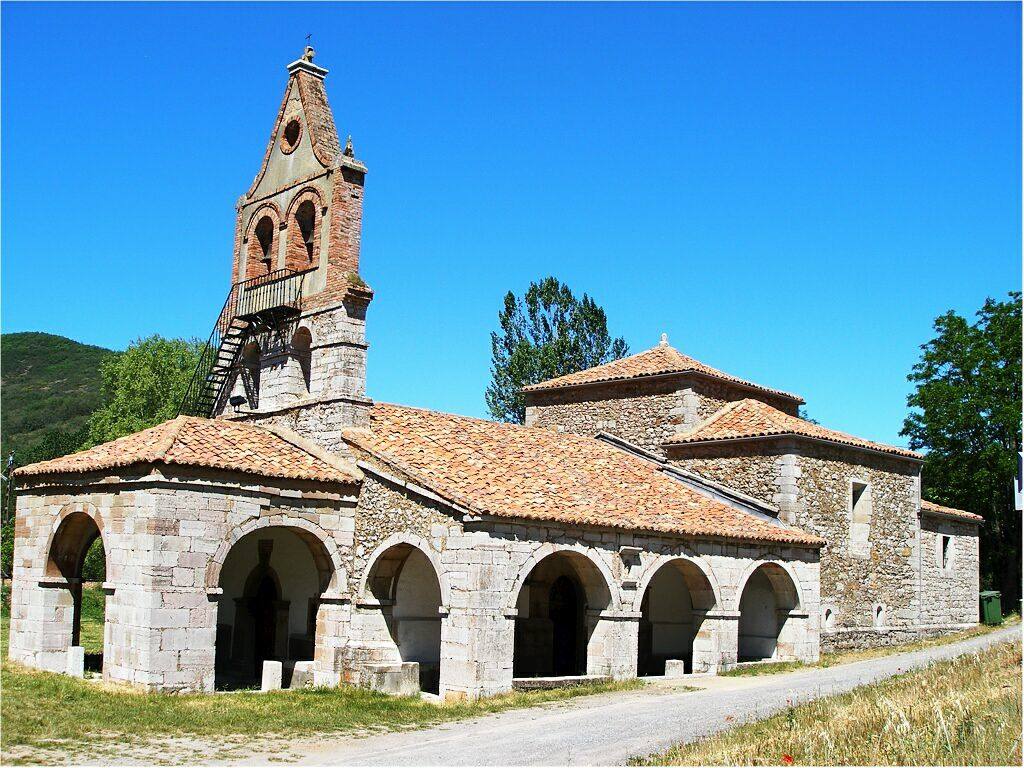
<path fill-rule="evenodd" d="M 622 359 L 605 362 L 603 366 L 588 368 L 574 374 L 559 376 L 557 379 L 549 379 L 538 384 L 530 384 L 523 387 L 524 392 L 538 392 L 546 389 L 561 389 L 563 387 L 579 386 L 581 384 L 597 384 L 608 381 L 622 381 L 625 379 L 639 379 L 645 376 L 658 376 L 662 374 L 684 374 L 693 373 L 709 376 L 713 379 L 740 384 L 761 392 L 768 392 L 779 397 L 787 397 L 792 400 L 803 402 L 804 398 L 797 394 L 783 392 L 780 389 L 769 389 L 760 384 L 739 379 L 730 374 L 723 373 L 717 368 L 706 366 L 700 360 L 683 354 L 678 349 L 670 346 L 667 342 L 658 344 L 656 347 L 639 352 L 638 354 L 623 357 Z"/>

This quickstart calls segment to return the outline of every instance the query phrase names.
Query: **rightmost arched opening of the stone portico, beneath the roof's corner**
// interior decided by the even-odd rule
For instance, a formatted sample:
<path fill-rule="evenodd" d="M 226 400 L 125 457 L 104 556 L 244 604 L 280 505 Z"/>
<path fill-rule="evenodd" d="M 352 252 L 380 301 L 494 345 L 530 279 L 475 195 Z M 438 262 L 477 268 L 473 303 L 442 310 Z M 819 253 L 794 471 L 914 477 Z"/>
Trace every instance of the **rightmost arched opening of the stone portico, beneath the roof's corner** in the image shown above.
<path fill-rule="evenodd" d="M 797 586 L 777 563 L 764 563 L 748 578 L 739 597 L 738 660 L 773 658 L 790 612 L 798 608 Z"/>

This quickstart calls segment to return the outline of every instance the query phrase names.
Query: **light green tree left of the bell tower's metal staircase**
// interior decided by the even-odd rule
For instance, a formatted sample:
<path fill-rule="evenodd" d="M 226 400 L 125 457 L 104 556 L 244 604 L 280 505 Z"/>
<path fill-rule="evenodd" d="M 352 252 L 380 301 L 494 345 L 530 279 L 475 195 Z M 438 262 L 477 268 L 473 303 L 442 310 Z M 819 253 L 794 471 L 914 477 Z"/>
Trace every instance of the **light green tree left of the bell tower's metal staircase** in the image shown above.
<path fill-rule="evenodd" d="M 114 440 L 177 416 L 202 342 L 151 336 L 100 365 L 102 404 L 89 417 L 87 445 Z"/>

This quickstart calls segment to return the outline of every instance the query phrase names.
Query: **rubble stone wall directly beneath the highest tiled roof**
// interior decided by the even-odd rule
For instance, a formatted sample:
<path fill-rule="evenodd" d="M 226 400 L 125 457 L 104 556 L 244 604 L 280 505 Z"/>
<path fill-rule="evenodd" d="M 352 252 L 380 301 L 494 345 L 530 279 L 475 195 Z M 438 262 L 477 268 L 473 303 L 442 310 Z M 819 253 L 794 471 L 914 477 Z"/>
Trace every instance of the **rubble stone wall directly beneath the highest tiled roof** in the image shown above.
<path fill-rule="evenodd" d="M 608 432 L 662 455 L 662 443 L 727 402 L 753 397 L 786 413 L 797 403 L 720 380 L 655 376 L 526 393 L 526 425 L 587 436 Z"/>

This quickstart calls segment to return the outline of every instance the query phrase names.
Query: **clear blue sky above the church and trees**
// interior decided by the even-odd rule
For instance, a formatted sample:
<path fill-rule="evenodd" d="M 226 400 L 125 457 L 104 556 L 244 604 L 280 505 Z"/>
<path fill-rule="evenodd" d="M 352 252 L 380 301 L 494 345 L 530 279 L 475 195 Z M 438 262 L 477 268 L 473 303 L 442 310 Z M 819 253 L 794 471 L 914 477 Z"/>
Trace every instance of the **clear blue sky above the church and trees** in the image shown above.
<path fill-rule="evenodd" d="M 370 168 L 369 390 L 484 415 L 554 274 L 902 443 L 933 318 L 1021 283 L 1017 4 L 2 6 L 2 324 L 205 338 L 306 34 Z"/>

